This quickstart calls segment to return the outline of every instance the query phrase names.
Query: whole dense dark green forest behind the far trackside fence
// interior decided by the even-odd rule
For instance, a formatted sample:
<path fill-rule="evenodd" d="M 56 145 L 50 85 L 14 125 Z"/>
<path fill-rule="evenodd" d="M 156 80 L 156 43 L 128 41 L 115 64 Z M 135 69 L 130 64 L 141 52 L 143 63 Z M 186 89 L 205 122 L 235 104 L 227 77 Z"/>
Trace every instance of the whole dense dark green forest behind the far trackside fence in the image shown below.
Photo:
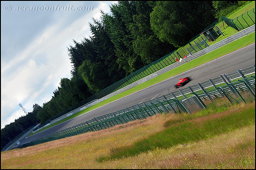
<path fill-rule="evenodd" d="M 1 150 L 16 135 L 89 98 L 136 70 L 177 50 L 245 2 L 120 1 L 89 23 L 92 35 L 68 47 L 71 79 L 63 78 L 52 99 L 1 129 Z"/>

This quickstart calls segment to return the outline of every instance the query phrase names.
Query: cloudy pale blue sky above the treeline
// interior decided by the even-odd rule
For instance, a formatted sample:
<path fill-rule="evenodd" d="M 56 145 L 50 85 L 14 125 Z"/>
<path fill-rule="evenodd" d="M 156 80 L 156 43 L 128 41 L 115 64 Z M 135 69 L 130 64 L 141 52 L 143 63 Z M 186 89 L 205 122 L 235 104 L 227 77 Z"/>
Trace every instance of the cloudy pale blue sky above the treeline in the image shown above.
<path fill-rule="evenodd" d="M 117 2 L 1 1 L 1 129 L 52 99 L 61 78 L 71 78 L 68 47 L 91 36 Z"/>

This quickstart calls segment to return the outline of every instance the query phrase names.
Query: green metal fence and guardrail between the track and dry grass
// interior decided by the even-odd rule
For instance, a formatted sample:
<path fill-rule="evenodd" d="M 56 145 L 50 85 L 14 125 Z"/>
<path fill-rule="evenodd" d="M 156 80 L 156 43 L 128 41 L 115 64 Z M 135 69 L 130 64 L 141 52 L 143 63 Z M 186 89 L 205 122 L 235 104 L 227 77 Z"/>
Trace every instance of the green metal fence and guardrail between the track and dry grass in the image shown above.
<path fill-rule="evenodd" d="M 230 74 L 224 74 L 220 77 L 209 79 L 208 81 L 188 86 L 174 92 L 170 92 L 153 100 L 148 100 L 116 112 L 95 117 L 87 122 L 60 130 L 30 143 L 22 144 L 16 148 L 28 147 L 29 145 L 44 143 L 86 132 L 98 131 L 119 124 L 124 124 L 132 120 L 153 116 L 157 113 L 191 113 L 190 110 L 193 107 L 199 107 L 200 109 L 205 108 L 206 106 L 203 103 L 204 100 L 212 100 L 220 97 L 224 98 L 224 96 L 226 96 L 232 103 L 232 99 L 234 98 L 232 98 L 230 94 L 235 96 L 239 95 L 244 101 L 239 91 L 249 90 L 255 97 L 254 88 L 255 65 L 236 72 L 231 72 Z"/>

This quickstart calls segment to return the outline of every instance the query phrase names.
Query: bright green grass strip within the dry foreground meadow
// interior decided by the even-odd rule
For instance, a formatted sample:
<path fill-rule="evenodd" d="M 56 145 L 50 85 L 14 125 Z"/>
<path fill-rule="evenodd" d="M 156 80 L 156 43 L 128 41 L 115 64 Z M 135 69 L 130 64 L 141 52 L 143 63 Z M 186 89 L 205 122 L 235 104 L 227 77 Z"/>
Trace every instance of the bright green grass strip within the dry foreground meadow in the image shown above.
<path fill-rule="evenodd" d="M 220 101 L 217 101 L 220 102 Z M 217 104 L 217 103 L 216 103 Z M 225 110 L 223 105 L 218 109 Z M 202 112 L 207 112 L 202 111 Z M 184 116 L 184 115 L 182 115 Z M 197 117 L 197 115 L 196 115 Z M 250 106 L 245 110 L 222 111 L 211 116 L 182 117 L 179 123 L 173 123 L 173 120 L 166 122 L 161 132 L 153 134 L 147 138 L 136 141 L 128 147 L 119 147 L 112 150 L 110 156 L 101 157 L 98 160 L 112 160 L 129 156 L 136 156 L 143 152 L 154 151 L 156 148 L 167 149 L 177 144 L 186 144 L 190 141 L 204 140 L 211 136 L 236 130 L 238 128 L 252 125 L 255 122 L 255 107 Z M 174 124 L 174 125 L 173 125 Z"/>

